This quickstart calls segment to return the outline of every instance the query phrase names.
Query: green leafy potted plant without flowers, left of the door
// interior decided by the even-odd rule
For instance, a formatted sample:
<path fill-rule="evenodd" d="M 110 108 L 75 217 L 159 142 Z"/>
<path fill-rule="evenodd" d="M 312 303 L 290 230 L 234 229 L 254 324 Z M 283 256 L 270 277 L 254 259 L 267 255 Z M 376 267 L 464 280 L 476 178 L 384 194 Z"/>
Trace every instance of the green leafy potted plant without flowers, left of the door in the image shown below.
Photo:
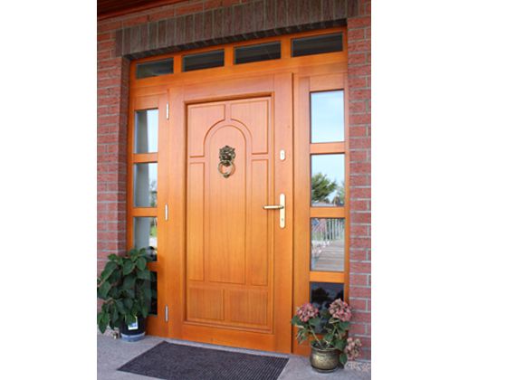
<path fill-rule="evenodd" d="M 108 326 L 119 328 L 122 339 L 136 341 L 146 333 L 151 299 L 151 257 L 143 248 L 132 249 L 125 256 L 110 254 L 97 279 L 97 296 L 103 299 L 97 324 L 103 334 Z"/>

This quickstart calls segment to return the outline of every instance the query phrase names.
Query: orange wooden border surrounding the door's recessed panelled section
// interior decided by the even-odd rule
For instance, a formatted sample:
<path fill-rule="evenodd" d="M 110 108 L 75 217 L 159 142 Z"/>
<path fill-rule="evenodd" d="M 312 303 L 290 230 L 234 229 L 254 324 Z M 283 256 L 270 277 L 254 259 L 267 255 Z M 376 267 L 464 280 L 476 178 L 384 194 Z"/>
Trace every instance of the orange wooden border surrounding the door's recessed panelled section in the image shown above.
<path fill-rule="evenodd" d="M 278 101 L 273 102 L 273 154 L 284 149 L 286 157 L 284 161 L 273 159 L 274 173 L 274 194 L 284 193 L 287 202 L 287 225 L 284 229 L 274 227 L 274 268 L 278 278 L 278 286 L 274 287 L 274 302 L 279 309 L 278 315 L 273 320 L 274 339 L 271 335 L 263 338 L 256 337 L 256 334 L 240 330 L 227 330 L 226 334 L 231 341 L 242 342 L 243 347 L 273 347 L 275 351 L 291 352 L 291 327 L 286 323 L 292 314 L 292 255 L 276 254 L 276 252 L 292 252 L 292 112 L 287 111 L 287 104 L 292 104 L 292 74 L 278 73 L 268 76 L 259 76 L 246 79 L 229 79 L 216 81 L 211 85 L 213 95 L 210 96 L 210 84 L 194 84 L 185 87 L 171 87 L 168 90 L 168 101 L 171 107 L 169 118 L 169 141 L 170 147 L 169 166 L 171 176 L 176 178 L 187 177 L 187 141 L 186 112 L 187 105 L 218 100 L 234 100 L 253 98 L 257 96 L 271 96 Z M 285 128 L 284 128 L 285 127 Z M 179 143 L 178 143 L 179 142 Z M 178 185 L 171 186 L 168 196 L 170 204 L 169 219 L 178 221 L 178 226 L 168 229 L 167 239 L 172 242 L 167 246 L 170 252 L 177 252 L 171 258 L 171 265 L 167 266 L 167 287 L 171 294 L 177 297 L 169 298 L 168 308 L 170 310 L 168 337 L 181 338 L 184 335 L 194 334 L 198 337 L 199 328 L 186 326 L 185 309 L 185 278 L 186 271 L 186 202 L 187 181 L 181 181 Z M 290 259 L 290 260 L 285 260 Z M 182 276 L 183 274 L 183 276 Z M 168 293 L 167 293 L 168 294 Z M 171 321 L 173 323 L 171 323 Z M 211 337 L 210 337 L 211 338 Z M 201 337 L 201 340 L 206 337 Z"/>

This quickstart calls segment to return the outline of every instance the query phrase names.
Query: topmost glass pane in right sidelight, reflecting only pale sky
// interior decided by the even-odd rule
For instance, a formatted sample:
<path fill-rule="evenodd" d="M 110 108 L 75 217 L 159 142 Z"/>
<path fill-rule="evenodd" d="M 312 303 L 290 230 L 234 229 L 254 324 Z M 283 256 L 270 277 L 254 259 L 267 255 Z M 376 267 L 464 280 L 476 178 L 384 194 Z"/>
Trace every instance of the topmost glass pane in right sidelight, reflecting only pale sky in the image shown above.
<path fill-rule="evenodd" d="M 345 140 L 343 90 L 311 92 L 311 142 Z"/>

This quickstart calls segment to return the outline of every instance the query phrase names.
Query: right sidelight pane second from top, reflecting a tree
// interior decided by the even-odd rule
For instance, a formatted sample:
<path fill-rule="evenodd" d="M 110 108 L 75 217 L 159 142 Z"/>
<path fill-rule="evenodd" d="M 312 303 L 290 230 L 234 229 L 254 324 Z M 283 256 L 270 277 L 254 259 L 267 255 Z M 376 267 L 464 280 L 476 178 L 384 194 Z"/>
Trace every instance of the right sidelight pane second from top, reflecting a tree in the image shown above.
<path fill-rule="evenodd" d="M 344 155 L 311 155 L 311 205 L 315 207 L 344 204 Z"/>

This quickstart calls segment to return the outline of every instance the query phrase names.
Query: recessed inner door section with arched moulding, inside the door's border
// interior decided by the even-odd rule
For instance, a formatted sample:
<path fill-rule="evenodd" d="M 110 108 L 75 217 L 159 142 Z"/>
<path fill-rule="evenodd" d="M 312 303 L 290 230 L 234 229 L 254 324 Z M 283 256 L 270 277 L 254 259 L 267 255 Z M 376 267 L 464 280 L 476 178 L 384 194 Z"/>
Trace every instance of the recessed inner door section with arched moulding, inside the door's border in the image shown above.
<path fill-rule="evenodd" d="M 269 330 L 273 213 L 263 205 L 273 200 L 271 98 L 193 104 L 187 112 L 193 115 L 187 125 L 187 320 Z M 203 146 L 204 155 L 192 157 L 193 147 Z M 218 171 L 225 146 L 235 153 L 229 177 Z"/>

